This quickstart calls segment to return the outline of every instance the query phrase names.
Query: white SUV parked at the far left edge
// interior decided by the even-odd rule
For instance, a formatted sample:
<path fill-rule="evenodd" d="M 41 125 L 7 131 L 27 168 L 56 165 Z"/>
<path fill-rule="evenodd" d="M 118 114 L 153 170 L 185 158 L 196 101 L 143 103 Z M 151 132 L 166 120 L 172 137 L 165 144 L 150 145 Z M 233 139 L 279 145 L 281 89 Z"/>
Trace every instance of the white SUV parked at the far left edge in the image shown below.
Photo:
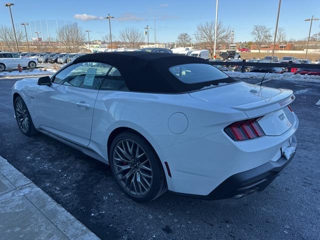
<path fill-rule="evenodd" d="M 18 64 L 21 67 L 36 67 L 35 60 L 30 57 L 20 57 L 14 52 L 0 52 L 0 71 L 6 68 L 17 68 Z"/>

